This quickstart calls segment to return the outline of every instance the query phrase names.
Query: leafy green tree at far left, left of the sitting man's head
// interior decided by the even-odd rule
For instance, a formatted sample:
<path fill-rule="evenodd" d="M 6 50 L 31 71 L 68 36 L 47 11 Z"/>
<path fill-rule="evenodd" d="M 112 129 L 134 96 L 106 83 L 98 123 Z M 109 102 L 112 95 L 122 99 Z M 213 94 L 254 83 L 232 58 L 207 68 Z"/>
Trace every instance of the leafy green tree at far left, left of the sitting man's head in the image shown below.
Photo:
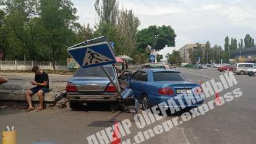
<path fill-rule="evenodd" d="M 36 41 L 40 36 L 38 27 L 38 1 L 33 0 L 4 0 L 2 4 L 5 6 L 6 25 L 5 28 L 9 35 L 9 43 L 15 51 L 19 51 L 17 57 L 23 57 L 23 53 L 27 53 L 30 59 L 39 57 L 36 53 Z M 17 49 L 19 48 L 19 49 Z M 16 54 L 16 53 L 14 53 Z"/>

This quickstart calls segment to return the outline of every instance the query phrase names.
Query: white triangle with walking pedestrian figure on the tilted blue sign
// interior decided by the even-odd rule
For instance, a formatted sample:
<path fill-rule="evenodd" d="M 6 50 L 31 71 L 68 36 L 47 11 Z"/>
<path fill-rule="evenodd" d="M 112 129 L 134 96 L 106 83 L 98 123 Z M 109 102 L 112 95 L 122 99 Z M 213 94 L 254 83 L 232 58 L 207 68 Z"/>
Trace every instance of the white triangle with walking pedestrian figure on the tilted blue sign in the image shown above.
<path fill-rule="evenodd" d="M 83 59 L 83 66 L 90 66 L 92 64 L 100 64 L 102 62 L 114 61 L 109 57 L 103 56 L 90 48 L 87 48 L 85 58 Z"/>

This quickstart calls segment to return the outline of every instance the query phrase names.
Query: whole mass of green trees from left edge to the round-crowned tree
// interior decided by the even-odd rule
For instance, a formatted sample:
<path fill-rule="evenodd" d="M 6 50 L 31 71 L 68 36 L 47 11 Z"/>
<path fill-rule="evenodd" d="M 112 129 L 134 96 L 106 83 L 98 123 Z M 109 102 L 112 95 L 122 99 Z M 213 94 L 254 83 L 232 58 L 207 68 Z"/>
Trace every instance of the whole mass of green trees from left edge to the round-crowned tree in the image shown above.
<path fill-rule="evenodd" d="M 116 0 L 95 1 L 99 23 L 94 28 L 76 22 L 71 0 L 0 0 L 0 6 L 4 59 L 66 62 L 67 47 L 103 35 L 115 43 L 116 55 L 126 54 L 139 63 L 148 62 L 148 45 L 156 50 L 175 46 L 171 26 L 139 31 L 138 17 L 132 10 L 119 10 Z"/>

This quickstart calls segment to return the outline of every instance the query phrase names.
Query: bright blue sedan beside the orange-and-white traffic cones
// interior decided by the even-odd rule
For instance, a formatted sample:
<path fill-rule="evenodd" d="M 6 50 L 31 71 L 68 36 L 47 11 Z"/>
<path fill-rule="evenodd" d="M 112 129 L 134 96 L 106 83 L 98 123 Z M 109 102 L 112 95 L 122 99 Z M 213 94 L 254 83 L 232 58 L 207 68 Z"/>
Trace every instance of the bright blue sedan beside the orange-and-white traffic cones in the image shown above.
<path fill-rule="evenodd" d="M 200 95 L 194 95 L 192 88 L 199 87 L 197 83 L 187 81 L 178 70 L 174 69 L 143 69 L 137 70 L 130 77 L 130 88 L 142 109 L 148 109 L 156 104 L 173 99 L 178 107 L 194 108 L 200 106 L 203 100 L 197 103 L 187 103 L 188 99 L 195 100 Z M 202 91 L 200 91 L 202 93 Z M 179 100 L 183 104 L 179 103 Z M 169 106 L 168 106 L 169 107 Z"/>

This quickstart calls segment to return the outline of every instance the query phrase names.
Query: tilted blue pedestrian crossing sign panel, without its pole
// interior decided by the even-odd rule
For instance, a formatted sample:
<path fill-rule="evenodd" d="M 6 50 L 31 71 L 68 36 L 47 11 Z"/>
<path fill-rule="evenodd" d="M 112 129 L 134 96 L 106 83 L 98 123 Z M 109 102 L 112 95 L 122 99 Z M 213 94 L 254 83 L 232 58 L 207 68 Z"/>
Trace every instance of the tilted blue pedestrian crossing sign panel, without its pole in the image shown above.
<path fill-rule="evenodd" d="M 67 52 L 72 56 L 80 67 L 97 67 L 107 64 L 116 64 L 113 51 L 107 41 L 95 44 L 69 48 Z"/>

